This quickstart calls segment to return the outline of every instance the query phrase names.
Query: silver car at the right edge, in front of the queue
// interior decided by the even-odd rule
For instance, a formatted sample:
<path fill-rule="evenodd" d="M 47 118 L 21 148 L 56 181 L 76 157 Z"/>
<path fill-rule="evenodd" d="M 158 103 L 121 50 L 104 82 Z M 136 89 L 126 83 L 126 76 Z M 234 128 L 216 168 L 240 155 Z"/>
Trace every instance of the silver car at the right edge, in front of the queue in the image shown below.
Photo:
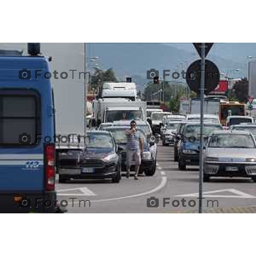
<path fill-rule="evenodd" d="M 210 176 L 251 177 L 256 182 L 256 141 L 249 131 L 215 131 L 204 152 L 204 181 Z"/>

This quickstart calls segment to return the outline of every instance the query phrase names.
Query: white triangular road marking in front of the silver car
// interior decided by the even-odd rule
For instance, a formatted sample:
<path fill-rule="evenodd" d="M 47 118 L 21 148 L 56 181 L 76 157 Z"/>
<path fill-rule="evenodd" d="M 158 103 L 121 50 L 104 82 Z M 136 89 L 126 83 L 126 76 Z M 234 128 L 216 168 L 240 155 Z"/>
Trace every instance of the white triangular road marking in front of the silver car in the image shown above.
<path fill-rule="evenodd" d="M 235 195 L 210 195 L 214 193 L 219 193 L 219 192 L 230 192 Z M 177 197 L 197 197 L 198 198 L 198 193 L 193 193 L 193 194 L 186 194 L 186 195 L 177 195 Z M 213 190 L 213 191 L 208 191 L 203 193 L 204 197 L 207 198 L 256 198 L 254 195 L 247 194 L 245 192 L 242 192 L 237 189 L 220 189 L 220 190 Z"/>

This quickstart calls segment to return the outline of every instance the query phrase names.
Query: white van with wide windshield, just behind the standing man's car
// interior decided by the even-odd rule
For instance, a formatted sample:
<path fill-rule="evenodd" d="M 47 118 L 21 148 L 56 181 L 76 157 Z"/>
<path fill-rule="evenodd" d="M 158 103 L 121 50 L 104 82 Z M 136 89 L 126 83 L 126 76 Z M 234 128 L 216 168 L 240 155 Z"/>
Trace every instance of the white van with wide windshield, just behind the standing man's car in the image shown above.
<path fill-rule="evenodd" d="M 146 102 L 124 98 L 103 98 L 93 101 L 93 116 L 96 125 L 119 120 L 145 120 Z"/>

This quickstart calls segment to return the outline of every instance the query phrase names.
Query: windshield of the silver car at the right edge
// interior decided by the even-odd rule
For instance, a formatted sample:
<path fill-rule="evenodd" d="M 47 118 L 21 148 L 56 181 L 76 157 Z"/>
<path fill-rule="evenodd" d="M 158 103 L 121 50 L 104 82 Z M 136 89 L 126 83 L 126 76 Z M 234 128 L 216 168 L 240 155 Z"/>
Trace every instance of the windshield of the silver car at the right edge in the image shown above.
<path fill-rule="evenodd" d="M 209 140 L 210 148 L 255 148 L 250 134 L 213 134 Z"/>

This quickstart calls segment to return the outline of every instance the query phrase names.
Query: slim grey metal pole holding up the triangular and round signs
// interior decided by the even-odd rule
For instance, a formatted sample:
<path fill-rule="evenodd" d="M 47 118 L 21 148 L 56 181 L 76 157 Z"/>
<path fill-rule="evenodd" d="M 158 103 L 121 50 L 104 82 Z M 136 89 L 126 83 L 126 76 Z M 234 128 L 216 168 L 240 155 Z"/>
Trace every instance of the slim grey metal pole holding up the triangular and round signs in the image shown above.
<path fill-rule="evenodd" d="M 203 179 L 204 179 L 204 77 L 205 77 L 205 43 L 201 43 L 201 86 L 200 86 L 200 99 L 201 99 L 201 115 L 200 115 L 200 170 L 199 170 L 199 188 L 198 188 L 198 201 L 199 213 L 203 213 Z"/>

